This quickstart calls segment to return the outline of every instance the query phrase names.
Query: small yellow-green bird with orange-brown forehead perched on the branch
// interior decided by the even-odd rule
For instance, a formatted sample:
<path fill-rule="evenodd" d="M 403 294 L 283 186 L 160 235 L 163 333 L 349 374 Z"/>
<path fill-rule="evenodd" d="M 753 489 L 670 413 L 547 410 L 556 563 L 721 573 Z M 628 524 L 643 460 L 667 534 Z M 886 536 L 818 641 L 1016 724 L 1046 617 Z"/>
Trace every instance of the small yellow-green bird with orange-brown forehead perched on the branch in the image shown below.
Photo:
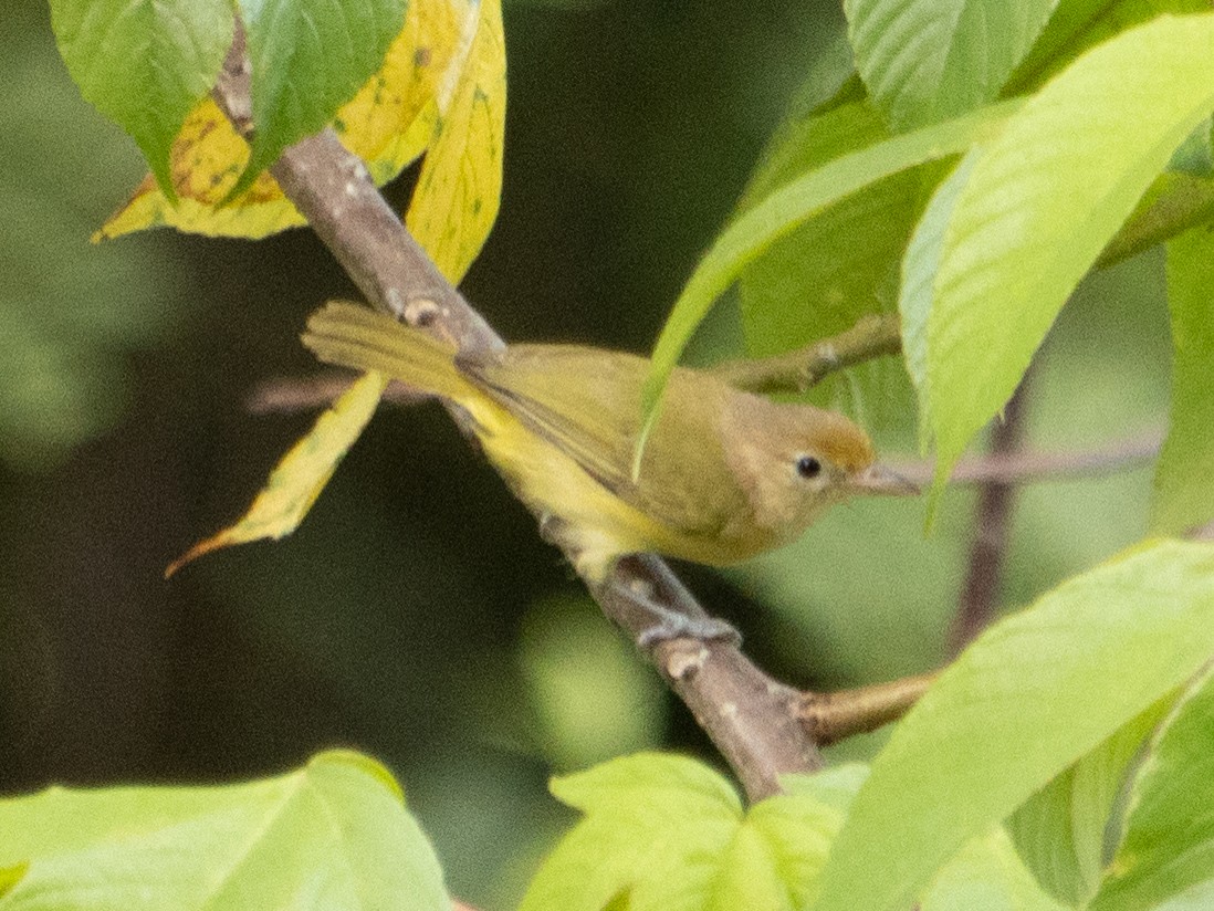
<path fill-rule="evenodd" d="M 634 553 L 744 560 L 853 494 L 915 492 L 874 463 L 868 436 L 844 415 L 771 402 L 703 370 L 673 373 L 634 479 L 645 358 L 543 344 L 469 356 L 340 301 L 313 313 L 302 338 L 322 361 L 466 411 L 486 455 L 590 582 Z"/>

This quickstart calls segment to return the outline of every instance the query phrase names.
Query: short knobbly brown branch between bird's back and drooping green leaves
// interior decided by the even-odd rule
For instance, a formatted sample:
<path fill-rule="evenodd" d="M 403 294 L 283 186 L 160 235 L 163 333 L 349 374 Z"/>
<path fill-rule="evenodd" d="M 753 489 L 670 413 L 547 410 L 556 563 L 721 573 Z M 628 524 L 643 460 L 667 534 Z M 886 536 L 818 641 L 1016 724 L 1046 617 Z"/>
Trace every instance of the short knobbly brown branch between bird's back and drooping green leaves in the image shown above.
<path fill-rule="evenodd" d="M 714 368 L 726 383 L 751 392 L 804 392 L 828 374 L 902 350 L 898 317 L 872 315 L 829 339 L 796 351 L 755 360 L 727 361 Z"/>

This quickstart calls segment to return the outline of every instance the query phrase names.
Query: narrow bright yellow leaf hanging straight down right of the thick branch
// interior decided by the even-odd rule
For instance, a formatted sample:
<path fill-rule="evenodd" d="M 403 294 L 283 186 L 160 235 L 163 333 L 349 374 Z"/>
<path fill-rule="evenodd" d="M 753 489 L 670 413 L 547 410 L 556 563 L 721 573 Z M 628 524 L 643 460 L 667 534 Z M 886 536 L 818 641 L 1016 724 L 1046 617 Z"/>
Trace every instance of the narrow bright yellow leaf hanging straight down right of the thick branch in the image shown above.
<path fill-rule="evenodd" d="M 459 282 L 484 245 L 501 198 L 506 47 L 500 0 L 469 7 L 464 64 L 437 90 L 439 117 L 405 215 L 439 271 Z"/>

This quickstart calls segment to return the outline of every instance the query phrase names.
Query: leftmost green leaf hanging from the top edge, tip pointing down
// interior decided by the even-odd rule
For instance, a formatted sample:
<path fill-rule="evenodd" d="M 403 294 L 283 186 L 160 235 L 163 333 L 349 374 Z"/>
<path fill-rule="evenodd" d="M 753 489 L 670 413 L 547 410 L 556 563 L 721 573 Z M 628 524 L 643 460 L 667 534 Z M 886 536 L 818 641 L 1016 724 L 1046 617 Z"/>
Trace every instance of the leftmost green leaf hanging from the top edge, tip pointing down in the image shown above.
<path fill-rule="evenodd" d="M 176 199 L 169 151 L 211 90 L 232 44 L 227 0 L 50 0 L 51 27 L 80 94 L 129 132 Z"/>

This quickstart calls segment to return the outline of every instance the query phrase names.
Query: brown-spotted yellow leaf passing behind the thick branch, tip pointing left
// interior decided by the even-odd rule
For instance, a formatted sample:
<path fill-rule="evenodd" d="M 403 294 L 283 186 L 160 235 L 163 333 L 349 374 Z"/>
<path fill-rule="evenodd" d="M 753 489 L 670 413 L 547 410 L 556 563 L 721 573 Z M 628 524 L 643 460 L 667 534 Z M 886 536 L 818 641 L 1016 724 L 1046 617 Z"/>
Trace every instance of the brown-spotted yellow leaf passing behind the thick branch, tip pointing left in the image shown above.
<path fill-rule="evenodd" d="M 472 7 L 475 10 L 475 7 Z M 458 77 L 467 0 L 416 0 L 388 47 L 380 70 L 346 102 L 333 121 L 341 142 L 361 157 L 378 185 L 396 177 L 435 135 L 436 92 Z M 452 72 L 452 70 L 455 72 Z M 261 238 L 304 223 L 268 172 L 231 204 L 216 208 L 249 160 L 249 145 L 210 98 L 186 119 L 172 143 L 174 205 L 149 175 L 93 241 L 149 227 Z"/>

